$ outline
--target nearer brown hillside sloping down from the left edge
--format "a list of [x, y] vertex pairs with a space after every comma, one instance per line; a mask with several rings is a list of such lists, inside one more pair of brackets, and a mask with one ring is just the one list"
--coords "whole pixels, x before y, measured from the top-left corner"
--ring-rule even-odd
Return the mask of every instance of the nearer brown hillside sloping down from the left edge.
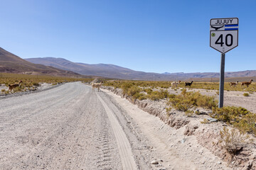
[[80, 74], [63, 69], [33, 64], [0, 47], [0, 72], [20, 74], [48, 74], [63, 77], [81, 77]]

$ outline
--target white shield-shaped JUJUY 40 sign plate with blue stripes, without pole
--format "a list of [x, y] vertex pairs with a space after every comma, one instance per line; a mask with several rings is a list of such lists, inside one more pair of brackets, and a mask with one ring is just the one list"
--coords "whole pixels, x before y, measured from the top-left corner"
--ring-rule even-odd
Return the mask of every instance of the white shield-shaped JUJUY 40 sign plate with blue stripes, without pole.
[[210, 47], [223, 54], [238, 47], [238, 18], [210, 20]]

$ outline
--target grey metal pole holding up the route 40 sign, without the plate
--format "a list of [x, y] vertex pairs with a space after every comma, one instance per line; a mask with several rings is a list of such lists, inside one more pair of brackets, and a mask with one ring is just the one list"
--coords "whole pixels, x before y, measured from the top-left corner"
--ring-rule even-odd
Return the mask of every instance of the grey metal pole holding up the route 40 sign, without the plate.
[[224, 74], [225, 74], [225, 54], [221, 54], [219, 108], [223, 107], [223, 99], [224, 99]]

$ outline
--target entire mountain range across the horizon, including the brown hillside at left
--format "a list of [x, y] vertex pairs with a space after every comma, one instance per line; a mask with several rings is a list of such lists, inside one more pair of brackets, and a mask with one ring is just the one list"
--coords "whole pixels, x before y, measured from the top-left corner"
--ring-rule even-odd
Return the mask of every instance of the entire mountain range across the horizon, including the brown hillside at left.
[[[48, 74], [63, 77], [108, 77], [112, 79], [174, 81], [218, 78], [216, 72], [168, 73], [139, 72], [114, 64], [85, 64], [63, 58], [43, 57], [21, 59], [0, 47], [0, 72], [20, 74]], [[256, 77], [256, 70], [225, 72], [225, 77]]]

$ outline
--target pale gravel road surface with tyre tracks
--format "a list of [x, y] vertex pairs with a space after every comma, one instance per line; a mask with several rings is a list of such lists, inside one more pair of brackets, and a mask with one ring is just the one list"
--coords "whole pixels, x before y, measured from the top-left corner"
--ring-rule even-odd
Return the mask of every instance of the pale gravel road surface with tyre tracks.
[[151, 169], [120, 108], [90, 86], [0, 101], [0, 169]]

